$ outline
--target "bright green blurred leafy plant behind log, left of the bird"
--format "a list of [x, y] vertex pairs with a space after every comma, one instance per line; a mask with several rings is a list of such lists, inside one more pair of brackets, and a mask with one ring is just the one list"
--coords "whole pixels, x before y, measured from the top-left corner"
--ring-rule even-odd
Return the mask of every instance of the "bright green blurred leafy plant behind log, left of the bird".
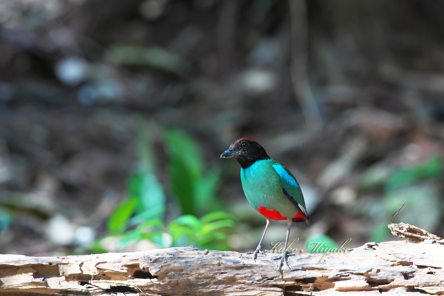
[[[201, 249], [227, 250], [226, 229], [234, 226], [233, 217], [220, 211], [216, 199], [220, 171], [205, 174], [205, 161], [198, 143], [188, 134], [167, 129], [163, 144], [168, 157], [170, 193], [177, 198], [183, 216], [164, 224], [166, 193], [156, 175], [155, 154], [147, 123], [138, 127], [139, 159], [127, 183], [129, 196], [111, 214], [110, 235], [95, 242], [93, 252], [106, 252], [103, 242], [116, 239], [117, 249], [130, 243], [149, 240], [163, 248], [194, 245]], [[214, 211], [218, 209], [218, 211]], [[194, 215], [204, 214], [200, 219]]]

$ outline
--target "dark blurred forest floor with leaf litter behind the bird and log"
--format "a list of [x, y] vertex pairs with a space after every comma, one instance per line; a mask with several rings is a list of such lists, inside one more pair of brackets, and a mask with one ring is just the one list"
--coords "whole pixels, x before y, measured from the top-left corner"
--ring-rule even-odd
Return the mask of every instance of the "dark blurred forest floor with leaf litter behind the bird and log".
[[[310, 225], [293, 225], [298, 248], [317, 234], [392, 240], [404, 202], [398, 222], [443, 237], [443, 10], [432, 0], [1, 0], [0, 253], [88, 253], [128, 197], [141, 121], [163, 221], [186, 206], [170, 186], [173, 128], [197, 141], [205, 174], [219, 172], [215, 198], [236, 223], [229, 249], [253, 250], [265, 226], [238, 164], [219, 159], [244, 136], [301, 183]], [[266, 248], [285, 233], [272, 222]]]

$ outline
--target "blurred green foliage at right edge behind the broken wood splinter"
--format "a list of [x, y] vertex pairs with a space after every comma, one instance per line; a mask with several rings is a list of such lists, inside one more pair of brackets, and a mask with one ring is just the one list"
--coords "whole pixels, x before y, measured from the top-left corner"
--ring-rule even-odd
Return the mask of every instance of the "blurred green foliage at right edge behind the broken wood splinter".
[[390, 233], [387, 225], [392, 214], [404, 202], [396, 220], [433, 231], [442, 215], [439, 189], [435, 181], [442, 171], [442, 160], [432, 156], [415, 166], [397, 170], [379, 166], [364, 174], [361, 188], [375, 189], [382, 186], [384, 189], [382, 200], [362, 201], [357, 204], [357, 211], [366, 214], [376, 223], [371, 240], [377, 243], [385, 240]]

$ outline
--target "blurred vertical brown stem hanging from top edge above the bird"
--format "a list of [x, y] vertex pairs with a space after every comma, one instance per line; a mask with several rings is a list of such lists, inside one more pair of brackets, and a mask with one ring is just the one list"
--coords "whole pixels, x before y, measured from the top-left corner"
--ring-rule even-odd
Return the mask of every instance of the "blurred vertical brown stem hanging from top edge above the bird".
[[322, 127], [321, 112], [310, 89], [307, 75], [308, 21], [305, 0], [289, 0], [291, 22], [291, 81], [294, 95], [310, 129]]

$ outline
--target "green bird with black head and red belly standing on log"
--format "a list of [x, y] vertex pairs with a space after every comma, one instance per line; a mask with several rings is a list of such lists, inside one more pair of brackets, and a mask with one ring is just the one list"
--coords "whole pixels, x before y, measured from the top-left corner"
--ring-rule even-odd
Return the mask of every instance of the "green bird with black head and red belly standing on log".
[[288, 264], [288, 238], [293, 222], [309, 224], [309, 215], [305, 207], [304, 196], [293, 174], [281, 163], [268, 156], [266, 150], [251, 138], [240, 138], [234, 141], [228, 150], [221, 154], [221, 158], [234, 158], [241, 165], [241, 182], [245, 196], [259, 213], [266, 217], [266, 225], [259, 245], [253, 254], [256, 260], [262, 251], [262, 241], [271, 220], [287, 220], [287, 237], [284, 252], [281, 256], [272, 259], [281, 259], [276, 270]]

